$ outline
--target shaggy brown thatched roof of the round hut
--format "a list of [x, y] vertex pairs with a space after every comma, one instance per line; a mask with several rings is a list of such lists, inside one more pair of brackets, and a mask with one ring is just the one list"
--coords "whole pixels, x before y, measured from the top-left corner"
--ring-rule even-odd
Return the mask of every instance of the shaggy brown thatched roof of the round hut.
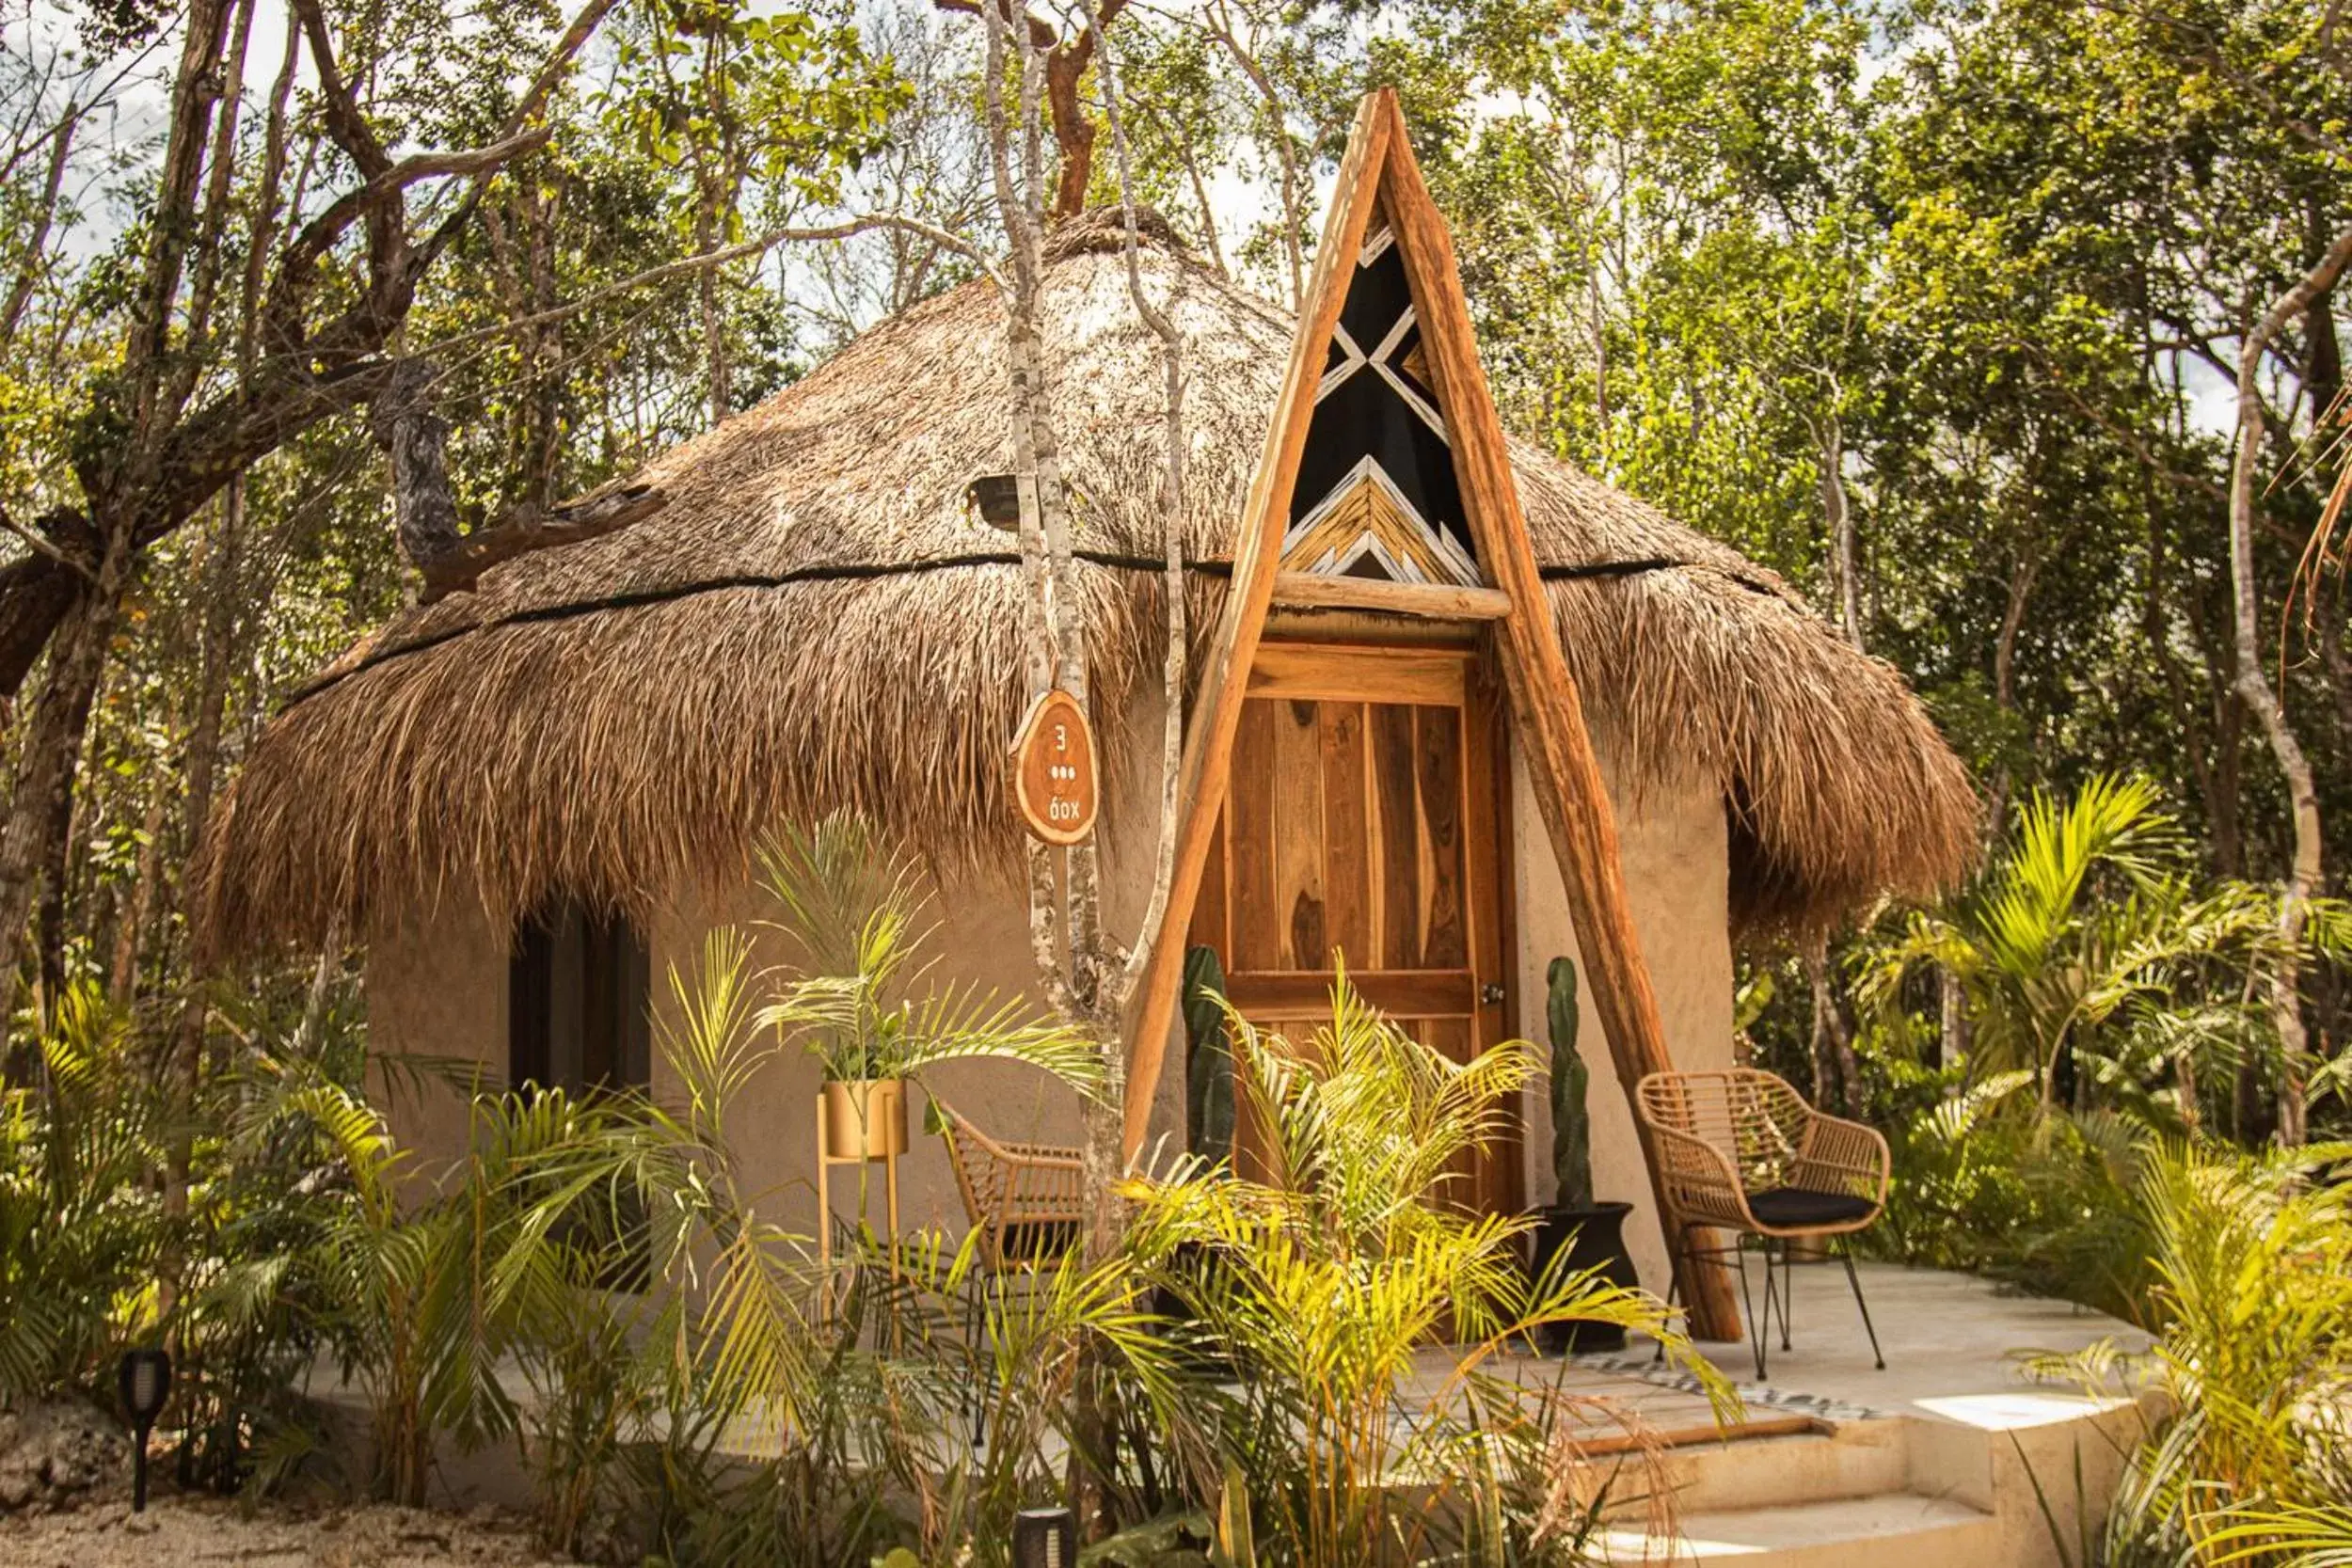
[[[1207, 625], [1291, 320], [1167, 242], [1143, 261], [1185, 334]], [[1157, 679], [1162, 527], [1157, 339], [1105, 223], [1056, 233], [1044, 320], [1103, 722]], [[508, 919], [553, 893], [647, 910], [837, 804], [941, 860], [1002, 863], [1023, 583], [1011, 536], [964, 503], [1011, 468], [1002, 339], [985, 282], [887, 320], [637, 475], [663, 512], [496, 567], [350, 649], [221, 804], [205, 945], [362, 931], [440, 896]], [[1517, 475], [1597, 738], [1722, 780], [1743, 926], [1830, 924], [1964, 870], [1976, 797], [1889, 665], [1576, 468], [1519, 447]]]

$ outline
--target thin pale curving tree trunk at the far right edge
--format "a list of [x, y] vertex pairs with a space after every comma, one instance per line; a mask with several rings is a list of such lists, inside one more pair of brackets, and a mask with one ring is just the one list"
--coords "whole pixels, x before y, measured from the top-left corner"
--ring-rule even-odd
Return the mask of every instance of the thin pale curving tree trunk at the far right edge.
[[2352, 261], [2352, 228], [2336, 235], [2333, 244], [2256, 322], [2246, 334], [2237, 357], [2237, 461], [2230, 465], [2230, 602], [2237, 642], [2237, 696], [2260, 722], [2270, 752], [2286, 778], [2286, 797], [2296, 823], [2296, 856], [2279, 896], [2279, 936], [2288, 952], [2270, 983], [2270, 1016], [2279, 1030], [2279, 1143], [2296, 1147], [2305, 1135], [2303, 1086], [2310, 1077], [2310, 1032], [2303, 1025], [2300, 964], [2293, 950], [2303, 945], [2303, 926], [2310, 917], [2307, 903], [2321, 886], [2321, 820], [2319, 788], [2312, 780], [2310, 757], [2286, 722], [2286, 705], [2263, 672], [2260, 635], [2260, 585], [2253, 574], [2253, 522], [2258, 510], [2258, 480], [2263, 463], [2263, 355], [2286, 322], [2312, 308], [2314, 301], [2336, 287], [2336, 277]]

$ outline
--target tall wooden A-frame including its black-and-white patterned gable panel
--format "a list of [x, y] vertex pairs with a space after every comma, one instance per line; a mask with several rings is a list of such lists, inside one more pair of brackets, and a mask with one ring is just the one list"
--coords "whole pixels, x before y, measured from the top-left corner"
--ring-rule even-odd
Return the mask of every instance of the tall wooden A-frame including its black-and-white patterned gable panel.
[[[1185, 931], [1277, 599], [1486, 623], [1621, 1086], [1632, 1095], [1639, 1077], [1670, 1067], [1616, 818], [1526, 538], [1454, 242], [1388, 89], [1364, 99], [1348, 139], [1185, 731], [1174, 877], [1129, 1020], [1129, 1157], [1150, 1126]], [[1693, 1331], [1738, 1340], [1729, 1274], [1689, 1258], [1677, 1272]]]

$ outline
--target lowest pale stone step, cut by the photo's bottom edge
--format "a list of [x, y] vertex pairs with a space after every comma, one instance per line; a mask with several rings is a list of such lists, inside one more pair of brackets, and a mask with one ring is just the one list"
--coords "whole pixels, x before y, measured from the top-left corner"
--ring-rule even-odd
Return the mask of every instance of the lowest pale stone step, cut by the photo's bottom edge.
[[1740, 1568], [1980, 1568], [1999, 1552], [1992, 1514], [1919, 1493], [1684, 1512], [1672, 1540], [1628, 1526], [1599, 1540], [1604, 1563], [1738, 1559]]

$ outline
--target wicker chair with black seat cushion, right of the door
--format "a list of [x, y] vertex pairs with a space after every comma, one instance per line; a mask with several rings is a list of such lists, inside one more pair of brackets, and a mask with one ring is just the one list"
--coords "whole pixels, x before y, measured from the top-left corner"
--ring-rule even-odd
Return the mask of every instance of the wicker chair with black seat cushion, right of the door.
[[[1780, 1312], [1780, 1349], [1790, 1347], [1790, 1241], [1851, 1237], [1879, 1218], [1891, 1173], [1886, 1140], [1860, 1121], [1813, 1110], [1788, 1079], [1755, 1067], [1653, 1072], [1637, 1086], [1637, 1098], [1665, 1194], [1668, 1248], [1677, 1258], [1729, 1253], [1738, 1262], [1762, 1380], [1773, 1307]], [[1696, 1237], [1710, 1227], [1736, 1232], [1731, 1246], [1698, 1246]], [[1748, 1255], [1738, 1237], [1764, 1244], [1762, 1321], [1748, 1293]], [[1870, 1356], [1884, 1371], [1886, 1356], [1879, 1352], [1879, 1331], [1870, 1324], [1853, 1253], [1844, 1246], [1837, 1253], [1863, 1314], [1863, 1333], [1870, 1335]]]

